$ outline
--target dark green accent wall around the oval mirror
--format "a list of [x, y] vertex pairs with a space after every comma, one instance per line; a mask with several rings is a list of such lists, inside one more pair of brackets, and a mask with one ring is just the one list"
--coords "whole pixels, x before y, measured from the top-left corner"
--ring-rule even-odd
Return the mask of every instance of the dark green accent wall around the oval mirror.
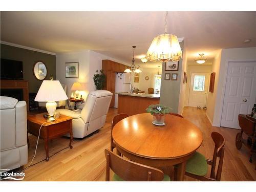
[[37, 93], [42, 83], [42, 80], [36, 79], [33, 74], [36, 61], [44, 62], [47, 67], [45, 80], [50, 80], [50, 77], [56, 79], [55, 55], [1, 44], [1, 58], [23, 61], [23, 79], [29, 81], [29, 93]]

